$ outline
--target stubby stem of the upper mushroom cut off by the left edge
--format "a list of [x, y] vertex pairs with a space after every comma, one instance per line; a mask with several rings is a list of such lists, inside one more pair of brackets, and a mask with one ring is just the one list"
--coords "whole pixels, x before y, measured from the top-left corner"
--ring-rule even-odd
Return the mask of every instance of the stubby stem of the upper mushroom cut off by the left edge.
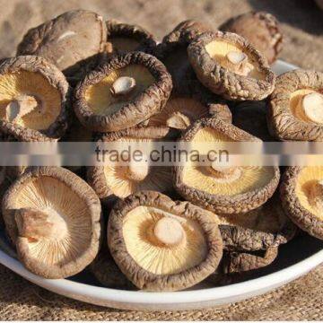
[[5, 107], [5, 117], [9, 122], [17, 122], [20, 118], [41, 107], [39, 100], [32, 95], [22, 94], [10, 101]]

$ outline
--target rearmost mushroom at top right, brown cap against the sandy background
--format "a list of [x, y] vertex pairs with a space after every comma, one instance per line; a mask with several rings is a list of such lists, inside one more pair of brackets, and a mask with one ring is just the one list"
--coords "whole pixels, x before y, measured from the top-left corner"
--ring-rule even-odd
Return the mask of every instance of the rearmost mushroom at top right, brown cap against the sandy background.
[[272, 64], [283, 49], [283, 33], [279, 22], [271, 13], [243, 13], [231, 18], [219, 27], [220, 31], [230, 31], [248, 39]]

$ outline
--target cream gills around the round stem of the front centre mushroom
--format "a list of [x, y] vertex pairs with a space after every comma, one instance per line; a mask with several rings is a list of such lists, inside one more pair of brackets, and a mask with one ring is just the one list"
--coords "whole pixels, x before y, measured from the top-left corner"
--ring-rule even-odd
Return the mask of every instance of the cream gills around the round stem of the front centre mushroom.
[[[153, 227], [162, 216], [171, 216], [181, 223], [186, 239], [179, 245], [166, 247], [152, 238]], [[207, 256], [207, 240], [199, 223], [151, 206], [137, 206], [126, 215], [123, 236], [135, 262], [157, 275], [179, 274]]]

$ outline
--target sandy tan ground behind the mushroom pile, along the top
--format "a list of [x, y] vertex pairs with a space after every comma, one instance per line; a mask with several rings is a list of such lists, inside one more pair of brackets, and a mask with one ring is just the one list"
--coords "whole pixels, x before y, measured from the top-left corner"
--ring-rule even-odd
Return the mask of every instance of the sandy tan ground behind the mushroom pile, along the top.
[[138, 23], [158, 39], [188, 18], [216, 28], [231, 15], [265, 10], [282, 22], [285, 43], [281, 57], [323, 71], [323, 11], [313, 0], [0, 0], [0, 7], [0, 57], [14, 56], [31, 27], [76, 8], [95, 11], [106, 19]]

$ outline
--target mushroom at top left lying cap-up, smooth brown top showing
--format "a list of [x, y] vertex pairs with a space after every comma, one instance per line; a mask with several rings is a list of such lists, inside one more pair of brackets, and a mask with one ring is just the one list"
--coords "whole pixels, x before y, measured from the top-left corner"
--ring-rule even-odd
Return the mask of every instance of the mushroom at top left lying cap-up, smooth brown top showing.
[[17, 55], [45, 57], [71, 76], [98, 57], [106, 39], [106, 24], [99, 14], [74, 10], [28, 31], [18, 46]]

